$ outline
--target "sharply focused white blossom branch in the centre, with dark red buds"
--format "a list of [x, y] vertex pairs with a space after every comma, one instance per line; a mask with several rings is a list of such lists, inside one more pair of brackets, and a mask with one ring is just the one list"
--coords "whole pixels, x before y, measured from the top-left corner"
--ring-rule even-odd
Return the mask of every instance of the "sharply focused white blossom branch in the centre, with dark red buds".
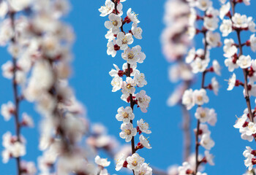
[[[118, 114], [116, 114], [116, 120], [122, 122], [121, 133], [119, 136], [125, 139], [126, 142], [132, 143], [132, 155], [127, 157], [127, 155], [120, 155], [117, 158], [116, 171], [121, 168], [129, 168], [134, 174], [152, 174], [152, 169], [147, 163], [144, 163], [144, 158], [138, 155], [138, 149], [146, 147], [151, 149], [151, 145], [148, 143], [148, 139], [141, 133], [151, 133], [148, 130], [149, 126], [143, 119], [137, 121], [137, 127], [134, 127], [133, 120], [135, 120], [135, 114], [133, 113], [133, 108], [135, 105], [140, 107], [142, 112], [147, 112], [147, 108], [151, 98], [146, 95], [145, 90], [140, 90], [136, 93], [136, 87], [142, 88], [147, 85], [145, 74], [141, 73], [137, 69], [138, 63], [143, 63], [146, 55], [142, 52], [140, 45], [135, 47], [130, 47], [129, 45], [134, 42], [135, 39], [142, 39], [142, 29], [138, 26], [140, 20], [138, 20], [138, 15], [132, 12], [132, 9], [127, 10], [127, 16], [121, 18], [123, 15], [123, 5], [121, 2], [126, 0], [106, 0], [105, 6], [99, 9], [101, 16], [107, 16], [108, 19], [105, 22], [105, 28], [108, 29], [108, 34], [105, 35], [108, 39], [108, 55], [112, 57], [116, 56], [118, 50], [122, 50], [121, 58], [126, 61], [123, 64], [122, 69], [119, 69], [115, 64], [113, 65], [115, 69], [112, 69], [109, 74], [113, 77], [111, 85], [113, 86], [112, 91], [116, 92], [121, 90], [121, 99], [127, 103], [129, 106], [121, 106], [118, 108]], [[128, 32], [124, 31], [124, 25], [132, 23], [132, 28]], [[125, 79], [123, 79], [126, 77]], [[137, 146], [135, 146], [135, 136], [139, 133], [140, 141]], [[97, 164], [100, 166], [101, 162], [105, 162], [104, 159], [96, 158]], [[100, 161], [99, 161], [100, 160]], [[104, 166], [105, 167], [105, 166]], [[106, 172], [102, 169], [101, 173]]]

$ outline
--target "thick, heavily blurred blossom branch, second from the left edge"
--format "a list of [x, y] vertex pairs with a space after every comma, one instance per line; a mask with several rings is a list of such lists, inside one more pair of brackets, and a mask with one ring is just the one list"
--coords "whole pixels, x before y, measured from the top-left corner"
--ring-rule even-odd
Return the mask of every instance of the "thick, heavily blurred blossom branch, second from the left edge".
[[40, 125], [38, 158], [42, 174], [94, 174], [97, 168], [87, 158], [80, 141], [88, 131], [83, 106], [69, 87], [72, 28], [61, 21], [69, 1], [36, 1], [29, 21], [31, 74], [24, 88], [28, 101], [37, 104], [44, 117]]

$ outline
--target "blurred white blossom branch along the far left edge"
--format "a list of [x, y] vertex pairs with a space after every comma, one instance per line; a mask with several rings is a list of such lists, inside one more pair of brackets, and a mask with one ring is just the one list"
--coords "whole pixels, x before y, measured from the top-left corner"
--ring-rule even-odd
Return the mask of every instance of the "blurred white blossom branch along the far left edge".
[[34, 121], [26, 112], [20, 117], [20, 102], [23, 101], [22, 88], [26, 83], [27, 65], [24, 59], [22, 48], [26, 45], [26, 39], [23, 38], [26, 16], [20, 15], [26, 8], [29, 8], [31, 1], [1, 1], [0, 2], [0, 46], [7, 47], [10, 53], [10, 61], [1, 66], [2, 75], [12, 81], [13, 102], [8, 101], [1, 105], [1, 115], [5, 121], [14, 120], [15, 135], [7, 131], [2, 136], [1, 152], [3, 163], [8, 163], [11, 158], [16, 160], [17, 174], [34, 175], [37, 168], [34, 162], [22, 160], [26, 155], [26, 139], [20, 133], [21, 128], [33, 128]]

